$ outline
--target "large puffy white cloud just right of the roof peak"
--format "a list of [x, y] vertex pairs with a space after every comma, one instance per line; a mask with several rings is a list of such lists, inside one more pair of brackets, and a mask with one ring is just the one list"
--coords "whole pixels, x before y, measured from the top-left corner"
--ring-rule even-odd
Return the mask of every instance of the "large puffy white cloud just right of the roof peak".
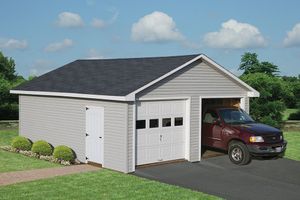
[[267, 45], [257, 27], [234, 19], [222, 23], [219, 31], [207, 33], [203, 41], [209, 47], [225, 49], [259, 48]]

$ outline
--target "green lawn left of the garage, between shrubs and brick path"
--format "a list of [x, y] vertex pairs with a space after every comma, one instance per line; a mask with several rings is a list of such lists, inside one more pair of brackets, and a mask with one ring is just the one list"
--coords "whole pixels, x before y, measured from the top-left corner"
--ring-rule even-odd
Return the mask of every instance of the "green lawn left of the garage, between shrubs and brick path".
[[[17, 135], [18, 131], [16, 129], [0, 130], [0, 146], [10, 145], [12, 138]], [[0, 173], [61, 166], [59, 164], [30, 158], [18, 153], [7, 152], [4, 150], [0, 150], [0, 163]]]

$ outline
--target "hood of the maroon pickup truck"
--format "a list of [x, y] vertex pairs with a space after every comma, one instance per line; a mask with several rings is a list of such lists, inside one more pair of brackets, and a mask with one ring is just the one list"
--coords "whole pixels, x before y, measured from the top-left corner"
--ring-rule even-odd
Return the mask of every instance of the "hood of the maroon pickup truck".
[[281, 133], [281, 131], [277, 128], [274, 128], [266, 124], [260, 124], [260, 123], [232, 125], [232, 128], [235, 128], [242, 132], [246, 131], [254, 135], [270, 135], [270, 133], [271, 134]]

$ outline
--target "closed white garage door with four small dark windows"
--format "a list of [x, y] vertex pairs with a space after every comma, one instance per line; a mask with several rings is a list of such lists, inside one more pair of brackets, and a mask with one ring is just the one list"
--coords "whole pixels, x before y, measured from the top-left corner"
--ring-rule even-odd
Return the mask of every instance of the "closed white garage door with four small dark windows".
[[184, 158], [185, 101], [137, 104], [137, 165]]

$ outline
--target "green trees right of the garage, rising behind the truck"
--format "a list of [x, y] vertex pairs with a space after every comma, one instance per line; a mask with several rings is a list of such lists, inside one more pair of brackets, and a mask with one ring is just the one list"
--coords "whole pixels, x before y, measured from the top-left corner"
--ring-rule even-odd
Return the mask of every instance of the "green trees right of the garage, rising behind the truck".
[[260, 92], [259, 98], [250, 99], [250, 115], [256, 121], [280, 127], [286, 108], [297, 108], [290, 117], [300, 119], [300, 75], [279, 76], [278, 66], [250, 52], [242, 55], [238, 69], [243, 71], [240, 78]]

